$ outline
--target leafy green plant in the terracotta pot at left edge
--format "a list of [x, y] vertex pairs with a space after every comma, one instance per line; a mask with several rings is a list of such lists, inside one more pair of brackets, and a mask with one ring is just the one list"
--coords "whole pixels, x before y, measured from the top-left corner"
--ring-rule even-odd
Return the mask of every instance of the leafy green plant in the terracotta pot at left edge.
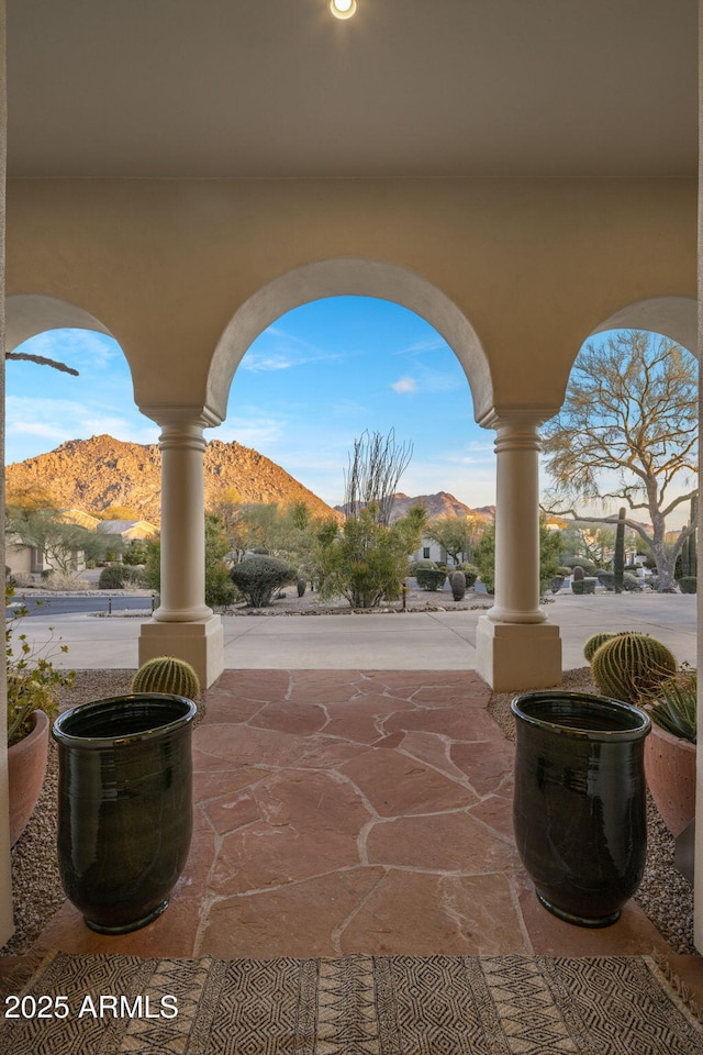
[[[5, 608], [14, 597], [14, 588], [5, 584]], [[74, 670], [56, 670], [52, 658], [55, 653], [68, 652], [51, 637], [45, 645], [30, 644], [26, 634], [18, 634], [16, 626], [26, 609], [14, 609], [5, 623], [5, 667], [8, 677], [8, 747], [23, 740], [34, 723], [34, 711], [41, 710], [55, 718], [58, 710], [58, 691], [74, 682]], [[49, 628], [51, 629], [51, 628]]]

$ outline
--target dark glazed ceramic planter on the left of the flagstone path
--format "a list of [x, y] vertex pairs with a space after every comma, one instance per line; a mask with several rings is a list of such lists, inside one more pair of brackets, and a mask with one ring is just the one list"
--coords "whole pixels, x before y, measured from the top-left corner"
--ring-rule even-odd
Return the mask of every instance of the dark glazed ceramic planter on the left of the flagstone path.
[[168, 904], [192, 834], [196, 712], [183, 697], [144, 692], [54, 723], [62, 882], [93, 931], [125, 934]]

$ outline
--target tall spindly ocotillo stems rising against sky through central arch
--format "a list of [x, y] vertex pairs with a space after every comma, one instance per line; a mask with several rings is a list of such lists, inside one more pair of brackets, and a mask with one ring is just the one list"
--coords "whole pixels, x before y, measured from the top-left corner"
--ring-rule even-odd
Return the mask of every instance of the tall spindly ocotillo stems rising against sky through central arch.
[[358, 519], [362, 509], [372, 506], [376, 522], [388, 525], [398, 481], [412, 455], [412, 443], [398, 444], [394, 429], [387, 436], [365, 430], [354, 441], [349, 468], [344, 474], [344, 509], [347, 518]]

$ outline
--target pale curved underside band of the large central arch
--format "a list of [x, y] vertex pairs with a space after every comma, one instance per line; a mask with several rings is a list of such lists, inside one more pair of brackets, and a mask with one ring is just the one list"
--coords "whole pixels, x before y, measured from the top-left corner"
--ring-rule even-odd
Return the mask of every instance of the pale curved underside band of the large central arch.
[[338, 258], [304, 264], [272, 279], [234, 313], [217, 342], [208, 375], [208, 406], [226, 413], [230, 386], [252, 342], [280, 315], [325, 297], [376, 297], [414, 311], [444, 337], [471, 389], [477, 421], [493, 406], [488, 357], [473, 326], [445, 293], [408, 268]]

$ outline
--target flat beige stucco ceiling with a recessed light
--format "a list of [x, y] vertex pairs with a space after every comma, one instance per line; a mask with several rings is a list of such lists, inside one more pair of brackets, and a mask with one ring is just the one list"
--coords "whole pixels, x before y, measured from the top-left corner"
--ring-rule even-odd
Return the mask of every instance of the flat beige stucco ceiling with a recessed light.
[[695, 0], [8, 0], [22, 176], [696, 171]]

